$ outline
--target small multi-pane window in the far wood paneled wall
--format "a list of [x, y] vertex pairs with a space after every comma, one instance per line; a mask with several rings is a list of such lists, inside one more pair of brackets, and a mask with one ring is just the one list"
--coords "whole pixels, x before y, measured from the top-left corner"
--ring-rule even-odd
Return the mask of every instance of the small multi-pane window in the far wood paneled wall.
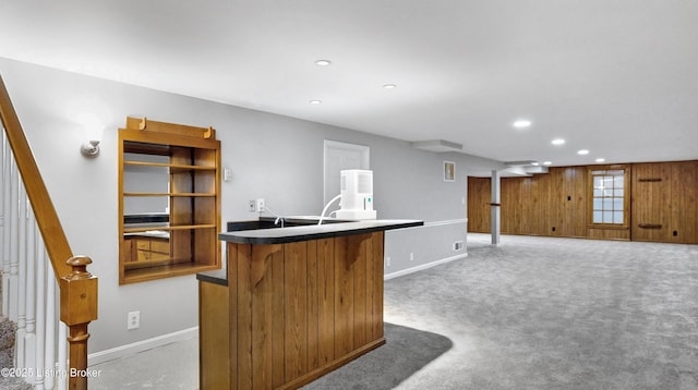
[[592, 207], [594, 224], [626, 224], [627, 174], [625, 169], [591, 170]]

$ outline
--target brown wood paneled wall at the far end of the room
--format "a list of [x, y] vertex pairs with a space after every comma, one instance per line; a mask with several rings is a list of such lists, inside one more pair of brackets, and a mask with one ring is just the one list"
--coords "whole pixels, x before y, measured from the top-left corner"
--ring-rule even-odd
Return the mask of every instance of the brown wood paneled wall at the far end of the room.
[[[502, 233], [698, 243], [698, 161], [630, 164], [629, 231], [589, 228], [587, 168], [502, 179]], [[468, 231], [490, 232], [490, 197], [489, 178], [468, 178]]]

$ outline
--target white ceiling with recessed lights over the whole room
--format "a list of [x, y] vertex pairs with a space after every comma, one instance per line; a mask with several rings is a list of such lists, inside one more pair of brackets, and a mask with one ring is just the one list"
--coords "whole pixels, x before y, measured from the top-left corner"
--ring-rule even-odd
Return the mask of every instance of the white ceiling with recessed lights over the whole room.
[[0, 57], [500, 161], [683, 160], [697, 21], [695, 0], [0, 0]]

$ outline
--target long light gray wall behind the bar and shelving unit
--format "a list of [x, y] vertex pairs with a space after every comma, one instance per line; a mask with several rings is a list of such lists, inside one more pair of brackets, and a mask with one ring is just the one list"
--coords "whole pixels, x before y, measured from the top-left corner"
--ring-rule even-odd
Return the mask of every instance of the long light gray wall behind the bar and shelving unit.
[[[71, 246], [93, 258], [91, 271], [99, 277], [99, 319], [91, 327], [91, 353], [197, 326], [194, 276], [119, 285], [116, 143], [127, 115], [217, 130], [222, 164], [233, 172], [222, 184], [224, 223], [256, 218], [246, 204], [257, 197], [280, 214], [318, 214], [323, 141], [369, 145], [378, 218], [428, 222], [386, 235], [388, 275], [457, 255], [453, 242], [466, 239], [467, 172], [501, 167], [472, 156], [431, 154], [401, 141], [7, 59], [0, 59], [0, 75]], [[107, 127], [97, 159], [80, 154], [83, 136], [74, 118], [83, 111], [98, 114]], [[456, 182], [443, 181], [444, 159], [456, 162]], [[141, 328], [127, 331], [131, 310], [141, 312]]]

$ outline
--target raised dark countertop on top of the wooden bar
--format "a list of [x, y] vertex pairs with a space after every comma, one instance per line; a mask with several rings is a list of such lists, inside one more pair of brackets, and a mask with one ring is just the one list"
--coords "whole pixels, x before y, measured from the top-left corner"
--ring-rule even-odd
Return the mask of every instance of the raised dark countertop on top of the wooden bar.
[[410, 219], [376, 219], [353, 222], [306, 224], [289, 228], [240, 230], [219, 233], [218, 240], [236, 244], [285, 244], [299, 241], [365, 234], [384, 230], [421, 227], [424, 221]]

